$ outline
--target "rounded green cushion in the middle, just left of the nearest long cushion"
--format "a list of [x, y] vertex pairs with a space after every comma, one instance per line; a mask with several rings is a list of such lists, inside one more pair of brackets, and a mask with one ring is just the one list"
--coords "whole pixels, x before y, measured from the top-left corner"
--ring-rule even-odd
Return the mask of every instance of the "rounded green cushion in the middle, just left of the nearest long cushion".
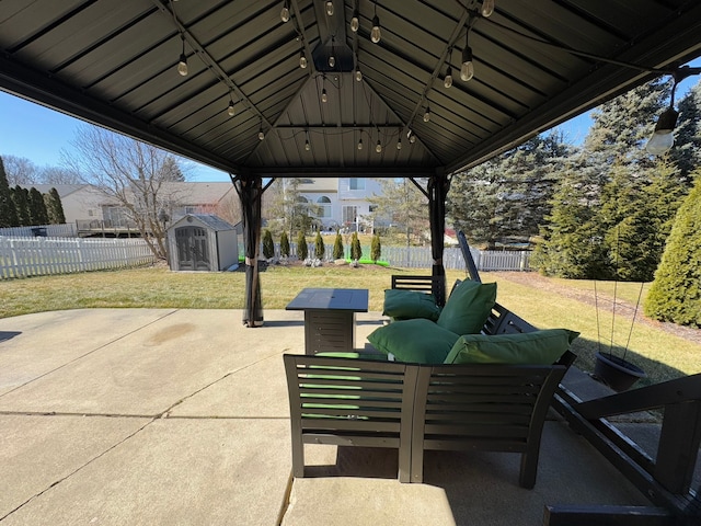
[[368, 340], [375, 348], [391, 354], [397, 362], [441, 364], [458, 338], [430, 320], [417, 318], [380, 327]]

